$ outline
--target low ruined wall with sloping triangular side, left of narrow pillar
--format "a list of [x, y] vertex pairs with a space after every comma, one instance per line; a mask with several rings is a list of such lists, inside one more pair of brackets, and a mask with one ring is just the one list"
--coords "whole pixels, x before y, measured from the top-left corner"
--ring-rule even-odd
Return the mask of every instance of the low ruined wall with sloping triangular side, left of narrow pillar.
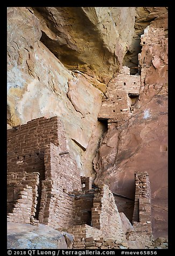
[[119, 211], [108, 186], [88, 191], [72, 191], [75, 198], [75, 224], [63, 226], [59, 231], [74, 235], [75, 246], [81, 247], [84, 239], [125, 240]]

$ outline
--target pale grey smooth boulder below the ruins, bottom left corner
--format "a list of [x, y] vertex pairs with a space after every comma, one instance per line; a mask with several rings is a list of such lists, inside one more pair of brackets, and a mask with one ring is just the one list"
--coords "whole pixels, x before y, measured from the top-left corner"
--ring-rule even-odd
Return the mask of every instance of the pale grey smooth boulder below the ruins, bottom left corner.
[[72, 248], [71, 234], [59, 232], [43, 224], [8, 223], [8, 249], [68, 249]]

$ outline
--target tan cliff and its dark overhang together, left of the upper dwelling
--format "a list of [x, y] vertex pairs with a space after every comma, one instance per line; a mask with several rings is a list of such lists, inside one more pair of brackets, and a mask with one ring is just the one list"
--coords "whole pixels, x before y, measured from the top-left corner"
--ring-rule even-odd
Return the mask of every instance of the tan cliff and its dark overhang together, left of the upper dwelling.
[[105, 129], [97, 120], [104, 82], [122, 64], [134, 13], [134, 8], [8, 8], [8, 128], [59, 116], [81, 175], [94, 176], [92, 160]]

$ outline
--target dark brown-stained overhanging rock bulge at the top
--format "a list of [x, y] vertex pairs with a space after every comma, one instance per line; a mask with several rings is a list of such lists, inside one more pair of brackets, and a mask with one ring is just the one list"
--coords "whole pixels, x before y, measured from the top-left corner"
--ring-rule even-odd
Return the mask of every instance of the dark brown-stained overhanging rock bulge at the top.
[[134, 7], [36, 7], [45, 44], [68, 69], [108, 82], [134, 33]]

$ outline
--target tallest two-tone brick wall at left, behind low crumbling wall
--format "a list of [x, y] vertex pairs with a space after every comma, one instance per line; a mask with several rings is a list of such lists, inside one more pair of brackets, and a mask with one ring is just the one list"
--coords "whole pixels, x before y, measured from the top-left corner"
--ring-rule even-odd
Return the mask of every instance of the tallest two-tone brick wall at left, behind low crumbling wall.
[[[32, 216], [40, 223], [53, 227], [74, 224], [74, 198], [68, 191], [81, 190], [81, 177], [57, 117], [37, 118], [8, 130], [8, 173], [12, 171], [12, 175], [20, 172], [21, 177], [38, 172], [38, 201]], [[17, 181], [15, 175], [11, 182]]]

